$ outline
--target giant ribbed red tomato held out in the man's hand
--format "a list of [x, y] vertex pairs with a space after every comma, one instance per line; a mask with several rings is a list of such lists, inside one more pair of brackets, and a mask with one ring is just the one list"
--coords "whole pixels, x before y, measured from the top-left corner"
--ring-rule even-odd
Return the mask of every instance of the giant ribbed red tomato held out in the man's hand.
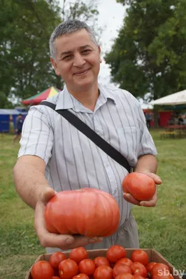
[[49, 232], [110, 236], [120, 222], [115, 199], [94, 188], [62, 191], [45, 206], [45, 223]]

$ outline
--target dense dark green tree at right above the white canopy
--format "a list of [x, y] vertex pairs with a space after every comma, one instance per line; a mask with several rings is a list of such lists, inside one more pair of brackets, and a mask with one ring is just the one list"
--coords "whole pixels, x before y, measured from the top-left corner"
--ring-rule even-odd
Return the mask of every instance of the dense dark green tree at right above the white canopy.
[[118, 2], [129, 8], [106, 54], [113, 82], [148, 100], [185, 89], [186, 1]]

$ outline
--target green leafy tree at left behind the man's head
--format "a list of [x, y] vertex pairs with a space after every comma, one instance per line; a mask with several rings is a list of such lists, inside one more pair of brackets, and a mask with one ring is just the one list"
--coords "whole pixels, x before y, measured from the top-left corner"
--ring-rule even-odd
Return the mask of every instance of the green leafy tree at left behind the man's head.
[[21, 100], [52, 85], [62, 89], [63, 81], [50, 63], [50, 34], [68, 18], [89, 17], [93, 22], [96, 2], [64, 0], [62, 7], [55, 0], [0, 0], [0, 4], [1, 107], [11, 96]]

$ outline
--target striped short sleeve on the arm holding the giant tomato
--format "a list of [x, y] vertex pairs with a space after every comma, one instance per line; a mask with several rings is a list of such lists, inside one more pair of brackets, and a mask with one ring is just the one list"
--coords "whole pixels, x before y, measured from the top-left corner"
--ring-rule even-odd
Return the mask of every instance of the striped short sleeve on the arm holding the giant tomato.
[[53, 131], [47, 114], [40, 106], [33, 106], [24, 120], [18, 158], [24, 155], [38, 156], [45, 161], [52, 155]]

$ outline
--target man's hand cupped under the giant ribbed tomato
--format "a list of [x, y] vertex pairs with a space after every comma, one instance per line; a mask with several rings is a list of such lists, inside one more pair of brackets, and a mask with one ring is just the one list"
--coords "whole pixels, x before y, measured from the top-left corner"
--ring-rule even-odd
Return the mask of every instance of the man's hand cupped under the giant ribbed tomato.
[[101, 237], [88, 238], [86, 236], [71, 236], [68, 234], [53, 234], [48, 232], [45, 227], [45, 205], [55, 194], [56, 192], [52, 188], [48, 188], [36, 204], [34, 228], [41, 245], [43, 247], [69, 250], [79, 246], [86, 246], [90, 243], [101, 242], [103, 239]]

